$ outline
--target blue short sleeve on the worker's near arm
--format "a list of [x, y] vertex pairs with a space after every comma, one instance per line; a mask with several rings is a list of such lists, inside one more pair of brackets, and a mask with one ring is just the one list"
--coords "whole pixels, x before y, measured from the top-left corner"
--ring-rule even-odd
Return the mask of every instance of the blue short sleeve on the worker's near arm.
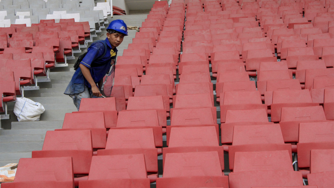
[[87, 49], [87, 54], [82, 59], [80, 64], [83, 64], [87, 68], [90, 68], [93, 60], [103, 55], [103, 51], [104, 51], [104, 45], [100, 42], [90, 45], [89, 48]]

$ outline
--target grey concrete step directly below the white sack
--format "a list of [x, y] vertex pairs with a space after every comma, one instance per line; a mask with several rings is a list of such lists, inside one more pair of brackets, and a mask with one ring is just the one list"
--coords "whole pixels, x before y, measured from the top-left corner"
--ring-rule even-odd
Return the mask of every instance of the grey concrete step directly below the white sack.
[[61, 129], [63, 121], [12, 122], [12, 129]]

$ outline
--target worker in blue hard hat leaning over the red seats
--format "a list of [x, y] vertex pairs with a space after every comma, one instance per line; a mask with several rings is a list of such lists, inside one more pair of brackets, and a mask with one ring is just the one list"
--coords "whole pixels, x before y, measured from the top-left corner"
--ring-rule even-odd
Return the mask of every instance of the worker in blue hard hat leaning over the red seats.
[[101, 97], [103, 77], [107, 73], [114, 73], [117, 47], [128, 36], [128, 28], [123, 20], [110, 22], [106, 31], [105, 40], [95, 41], [88, 47], [64, 92], [73, 99], [78, 110], [82, 98]]

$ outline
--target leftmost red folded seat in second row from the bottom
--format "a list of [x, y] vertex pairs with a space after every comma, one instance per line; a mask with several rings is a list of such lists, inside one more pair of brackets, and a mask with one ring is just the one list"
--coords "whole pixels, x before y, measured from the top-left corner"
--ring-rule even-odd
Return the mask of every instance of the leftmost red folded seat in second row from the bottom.
[[92, 155], [89, 130], [47, 131], [42, 151], [32, 151], [32, 158], [72, 157], [75, 174], [88, 174]]

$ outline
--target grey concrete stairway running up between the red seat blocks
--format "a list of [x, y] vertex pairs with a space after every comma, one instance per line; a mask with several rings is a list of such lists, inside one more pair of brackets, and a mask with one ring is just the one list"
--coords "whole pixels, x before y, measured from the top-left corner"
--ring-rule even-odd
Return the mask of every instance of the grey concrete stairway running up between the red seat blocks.
[[[141, 26], [147, 18], [147, 14], [114, 16], [114, 18], [109, 18], [108, 21], [110, 23], [113, 20], [122, 19], [128, 26]], [[129, 36], [124, 38], [123, 43], [118, 48], [118, 56], [123, 55], [123, 50], [128, 48], [129, 43], [132, 43], [136, 32], [136, 30], [128, 31]], [[97, 35], [98, 37], [94, 40], [105, 39], [105, 29]], [[86, 49], [83, 49], [82, 53], [85, 51]], [[81, 54], [75, 54], [76, 57], [79, 55]], [[40, 121], [17, 122], [13, 114], [15, 103], [9, 104], [9, 111], [12, 116], [11, 120], [7, 120], [10, 121], [7, 122], [9, 126], [0, 130], [0, 166], [19, 162], [20, 158], [31, 157], [31, 151], [41, 150], [46, 131], [61, 129], [65, 114], [76, 111], [72, 99], [63, 94], [74, 73], [73, 64], [76, 59], [68, 60], [68, 67], [52, 69], [50, 72], [51, 82], [39, 83], [39, 90], [25, 91], [25, 97], [39, 102], [45, 107], [46, 111], [41, 115]]]

